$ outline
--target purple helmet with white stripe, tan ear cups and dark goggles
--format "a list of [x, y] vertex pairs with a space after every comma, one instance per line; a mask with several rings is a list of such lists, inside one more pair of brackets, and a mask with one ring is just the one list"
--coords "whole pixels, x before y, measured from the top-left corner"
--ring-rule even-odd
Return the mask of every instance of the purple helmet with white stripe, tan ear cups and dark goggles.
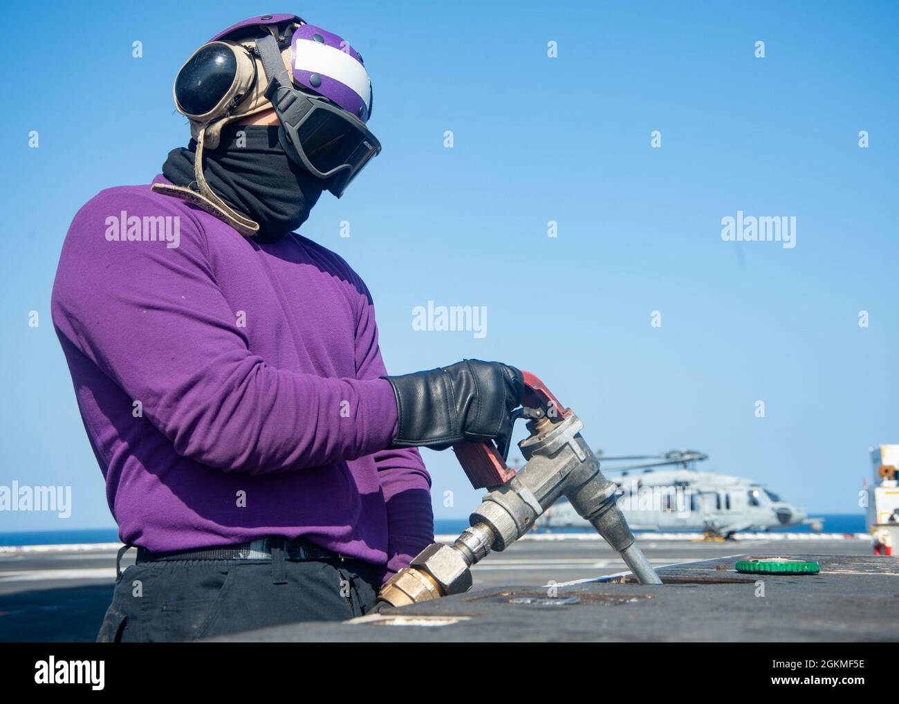
[[[263, 14], [218, 32], [179, 71], [174, 100], [191, 120], [198, 151], [218, 147], [228, 122], [274, 108], [288, 156], [338, 198], [381, 148], [366, 126], [371, 80], [359, 52], [293, 14]], [[200, 192], [222, 208], [201, 158], [195, 163]]]

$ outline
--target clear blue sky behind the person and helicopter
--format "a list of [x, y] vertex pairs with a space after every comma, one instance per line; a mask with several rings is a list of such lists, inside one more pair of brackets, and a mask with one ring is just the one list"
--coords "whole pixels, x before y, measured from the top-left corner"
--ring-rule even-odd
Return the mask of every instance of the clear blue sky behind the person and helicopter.
[[[899, 442], [899, 5], [38, 2], [7, 8], [0, 44], [0, 484], [70, 485], [74, 507], [0, 530], [112, 524], [49, 316], [58, 252], [94, 193], [186, 144], [171, 86], [191, 51], [275, 11], [350, 40], [372, 76], [384, 151], [301, 231], [369, 284], [388, 370], [507, 361], [593, 447], [697, 448], [812, 512], [858, 511], [868, 445]], [[737, 210], [796, 216], [796, 247], [722, 241]], [[485, 338], [415, 332], [428, 300], [487, 307]], [[437, 516], [467, 515], [453, 455], [423, 454]]]

